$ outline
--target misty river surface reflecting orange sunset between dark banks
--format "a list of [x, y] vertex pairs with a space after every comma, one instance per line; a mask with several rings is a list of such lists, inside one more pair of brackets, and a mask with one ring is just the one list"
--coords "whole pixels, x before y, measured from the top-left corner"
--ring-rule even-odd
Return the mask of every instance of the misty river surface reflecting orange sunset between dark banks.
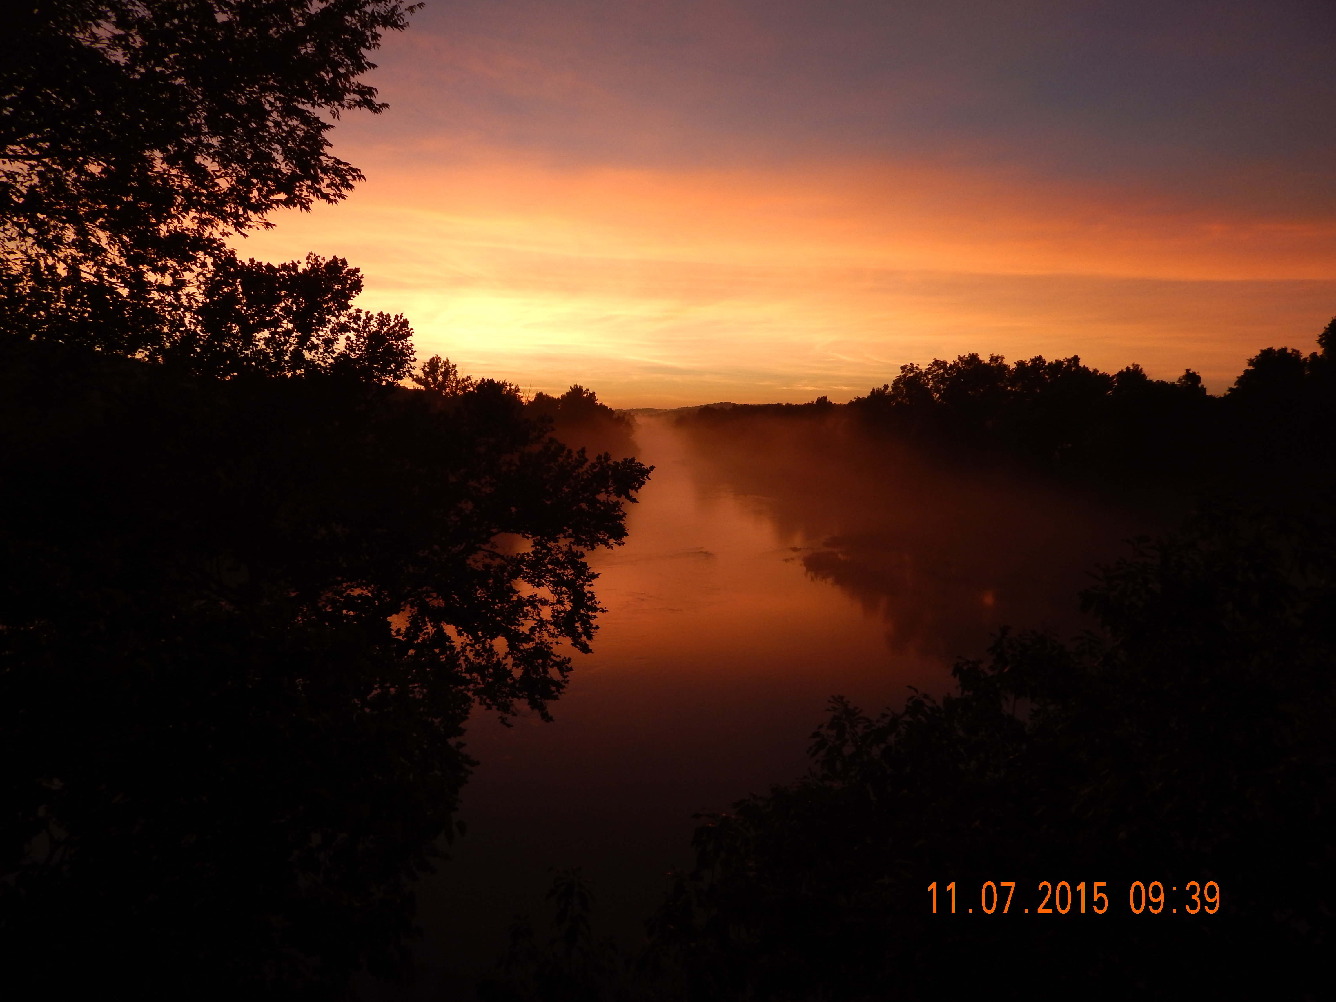
[[1002, 623], [1071, 632], [1088, 568], [1133, 528], [808, 430], [691, 438], [641, 420], [656, 469], [627, 545], [592, 556], [595, 653], [556, 723], [469, 731], [469, 832], [420, 891], [430, 966], [486, 966], [512, 915], [542, 911], [549, 867], [582, 866], [600, 921], [635, 935], [691, 862], [691, 815], [800, 774], [831, 695], [879, 709], [941, 692]]

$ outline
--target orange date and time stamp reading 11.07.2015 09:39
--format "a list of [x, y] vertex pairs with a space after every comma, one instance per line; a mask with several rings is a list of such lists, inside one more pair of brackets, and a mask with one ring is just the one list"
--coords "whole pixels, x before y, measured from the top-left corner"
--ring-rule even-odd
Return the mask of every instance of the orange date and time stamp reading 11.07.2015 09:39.
[[[1021, 912], [1035, 915], [1083, 915], [1088, 911], [1104, 915], [1110, 907], [1110, 891], [1108, 880], [1096, 880], [1089, 884], [1089, 898], [1086, 896], [1086, 883], [1073, 884], [1069, 880], [1039, 880], [1031, 900], [1025, 891], [1017, 895], [1015, 880], [985, 880], [979, 887], [977, 903], [966, 900], [962, 895], [961, 907], [957, 907], [955, 882], [941, 888], [941, 900], [937, 883], [927, 886], [933, 898], [933, 912], [950, 911], [958, 914], [974, 914], [979, 911], [985, 915], [1001, 912], [1003, 915]], [[962, 888], [963, 890], [963, 888]], [[1122, 900], [1121, 890], [1113, 892], [1113, 899]], [[1161, 880], [1133, 880], [1126, 892], [1128, 908], [1134, 915], [1169, 914], [1200, 915], [1202, 912], [1214, 915], [1220, 910], [1220, 884], [1214, 880], [1188, 880], [1185, 884], [1172, 884], [1165, 891]]]

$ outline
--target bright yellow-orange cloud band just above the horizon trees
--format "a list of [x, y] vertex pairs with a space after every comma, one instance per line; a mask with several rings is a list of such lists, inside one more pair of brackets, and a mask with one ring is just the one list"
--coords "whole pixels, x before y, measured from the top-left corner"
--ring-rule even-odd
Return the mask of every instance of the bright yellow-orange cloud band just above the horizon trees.
[[492, 158], [370, 178], [240, 250], [343, 254], [424, 351], [624, 406], [848, 398], [971, 350], [1192, 366], [1222, 389], [1257, 347], [1308, 346], [1336, 303], [1331, 227], [1101, 214], [961, 178]]

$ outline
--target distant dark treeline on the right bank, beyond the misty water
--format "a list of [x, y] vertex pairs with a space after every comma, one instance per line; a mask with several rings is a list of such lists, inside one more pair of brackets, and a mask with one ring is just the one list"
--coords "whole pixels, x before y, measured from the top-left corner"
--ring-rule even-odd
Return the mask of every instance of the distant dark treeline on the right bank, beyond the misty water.
[[1137, 365], [1104, 373], [1081, 359], [961, 355], [904, 365], [894, 382], [847, 405], [703, 407], [680, 418], [701, 430], [760, 417], [844, 420], [942, 461], [1110, 482], [1229, 486], [1244, 469], [1287, 473], [1327, 456], [1336, 417], [1336, 321], [1319, 351], [1264, 349], [1222, 395], [1193, 371], [1152, 379]]

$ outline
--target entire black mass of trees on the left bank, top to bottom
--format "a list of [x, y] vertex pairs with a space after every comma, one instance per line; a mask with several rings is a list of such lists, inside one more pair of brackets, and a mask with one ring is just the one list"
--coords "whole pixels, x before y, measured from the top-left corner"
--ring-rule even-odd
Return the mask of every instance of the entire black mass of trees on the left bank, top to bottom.
[[566, 449], [512, 385], [414, 370], [346, 261], [226, 243], [359, 179], [330, 115], [383, 107], [361, 75], [410, 11], [7, 12], [5, 998], [394, 975], [462, 830], [465, 720], [545, 716], [589, 649], [585, 553], [648, 470]]

